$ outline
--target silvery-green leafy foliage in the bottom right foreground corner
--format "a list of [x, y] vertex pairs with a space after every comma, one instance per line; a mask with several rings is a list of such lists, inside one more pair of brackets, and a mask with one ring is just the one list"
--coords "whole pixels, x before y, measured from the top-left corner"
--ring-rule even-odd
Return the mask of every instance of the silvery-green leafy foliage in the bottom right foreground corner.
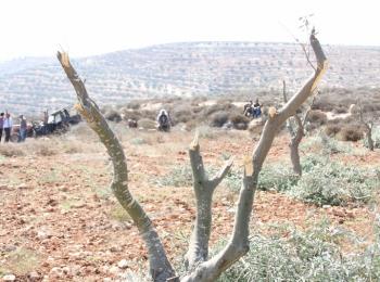
[[349, 234], [326, 222], [288, 233], [253, 236], [248, 255], [218, 281], [379, 281], [379, 238], [363, 253], [344, 254], [339, 242]]

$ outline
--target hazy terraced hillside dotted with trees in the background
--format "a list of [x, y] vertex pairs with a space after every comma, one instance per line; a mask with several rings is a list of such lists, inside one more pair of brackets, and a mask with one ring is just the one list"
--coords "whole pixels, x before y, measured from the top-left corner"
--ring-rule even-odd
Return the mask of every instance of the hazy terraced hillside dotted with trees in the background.
[[[380, 47], [326, 47], [329, 87], [379, 87]], [[168, 95], [249, 94], [296, 87], [311, 73], [297, 44], [191, 42], [153, 46], [74, 60], [101, 104]], [[71, 105], [74, 92], [58, 61], [0, 64], [0, 104], [14, 113]]]

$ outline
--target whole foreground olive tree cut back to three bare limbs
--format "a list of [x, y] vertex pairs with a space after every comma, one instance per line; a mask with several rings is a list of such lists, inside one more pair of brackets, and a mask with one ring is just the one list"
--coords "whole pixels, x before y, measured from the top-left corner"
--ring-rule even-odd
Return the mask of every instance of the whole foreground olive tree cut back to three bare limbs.
[[198, 138], [189, 149], [193, 171], [193, 188], [197, 200], [197, 218], [191, 235], [189, 251], [186, 255], [187, 272], [179, 277], [169, 262], [165, 248], [152, 221], [141, 205], [128, 190], [127, 161], [123, 148], [115, 133], [110, 129], [96, 102], [89, 97], [84, 81], [72, 66], [67, 53], [58, 53], [58, 59], [76, 91], [78, 103], [76, 108], [85, 117], [90, 128], [99, 136], [111, 156], [114, 177], [112, 191], [118, 202], [127, 210], [145, 243], [149, 254], [150, 273], [153, 281], [215, 281], [226, 269], [249, 252], [250, 218], [258, 175], [263, 163], [271, 148], [273, 141], [281, 125], [293, 116], [297, 108], [316, 89], [327, 67], [327, 59], [315, 37], [314, 29], [309, 42], [316, 55], [317, 67], [303, 87], [280, 108], [269, 110], [268, 119], [263, 133], [251, 156], [244, 161], [242, 187], [240, 190], [232, 234], [226, 246], [213, 257], [208, 257], [208, 241], [212, 225], [211, 203], [213, 192], [232, 165], [229, 161], [220, 171], [208, 179], [203, 166]]

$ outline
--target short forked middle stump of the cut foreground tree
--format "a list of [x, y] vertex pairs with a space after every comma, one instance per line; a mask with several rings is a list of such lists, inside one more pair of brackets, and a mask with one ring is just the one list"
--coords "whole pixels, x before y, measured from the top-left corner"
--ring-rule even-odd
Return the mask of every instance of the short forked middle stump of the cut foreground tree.
[[230, 158], [227, 161], [218, 174], [212, 179], [208, 179], [204, 170], [203, 159], [200, 153], [198, 133], [190, 144], [189, 155], [197, 201], [197, 217], [190, 239], [189, 249], [186, 254], [185, 264], [188, 270], [192, 270], [197, 265], [205, 261], [208, 257], [213, 194], [216, 187], [230, 170], [233, 159]]

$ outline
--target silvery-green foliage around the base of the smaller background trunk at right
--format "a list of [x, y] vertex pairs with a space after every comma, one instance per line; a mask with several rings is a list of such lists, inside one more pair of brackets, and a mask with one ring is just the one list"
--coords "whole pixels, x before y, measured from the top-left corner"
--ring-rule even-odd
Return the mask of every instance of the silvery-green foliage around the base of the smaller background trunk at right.
[[[377, 170], [346, 166], [315, 155], [303, 158], [302, 168], [303, 176], [300, 178], [292, 174], [290, 167], [265, 166], [258, 177], [257, 188], [284, 192], [318, 206], [366, 204], [380, 190]], [[241, 179], [236, 178], [235, 181], [237, 183], [230, 187], [239, 188]]]

